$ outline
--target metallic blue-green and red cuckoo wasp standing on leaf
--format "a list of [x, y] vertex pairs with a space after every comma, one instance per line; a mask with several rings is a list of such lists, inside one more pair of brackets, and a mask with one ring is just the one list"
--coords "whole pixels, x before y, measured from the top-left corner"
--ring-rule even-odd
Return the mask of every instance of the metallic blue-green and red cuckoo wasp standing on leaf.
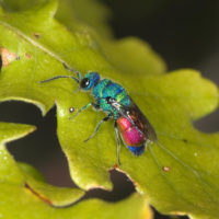
[[73, 76], [56, 76], [41, 81], [41, 83], [60, 78], [71, 78], [79, 83], [79, 89], [90, 91], [94, 97], [94, 102], [82, 106], [76, 115], [90, 106], [107, 114], [107, 116], [97, 124], [94, 132], [84, 140], [84, 142], [90, 140], [97, 132], [101, 125], [111, 118], [114, 118], [114, 129], [117, 141], [117, 161], [119, 165], [120, 138], [124, 145], [135, 155], [142, 154], [149, 142], [157, 141], [157, 135], [153, 127], [120, 84], [115, 83], [110, 79], [101, 79], [97, 72], [92, 71], [82, 77], [79, 71], [70, 69], [65, 64], [64, 67], [67, 70], [77, 73], [77, 78]]

